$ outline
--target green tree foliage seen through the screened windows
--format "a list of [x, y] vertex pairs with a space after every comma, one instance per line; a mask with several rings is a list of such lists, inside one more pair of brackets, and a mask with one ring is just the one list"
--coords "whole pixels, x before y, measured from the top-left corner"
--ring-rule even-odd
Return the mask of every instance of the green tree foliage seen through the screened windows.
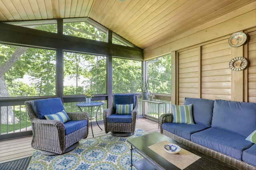
[[[40, 25], [36, 29], [56, 32], [56, 24]], [[65, 23], [64, 34], [106, 41], [106, 33], [86, 22]], [[2, 44], [0, 46], [0, 65], [8, 61], [18, 48], [15, 45]], [[118, 58], [113, 58], [112, 61], [113, 93], [141, 92], [139, 85], [142, 71], [141, 61]], [[170, 73], [170, 55], [160, 57], [156, 63], [149, 63], [149, 92], [170, 93]], [[22, 82], [25, 75], [29, 76], [28, 83]], [[105, 56], [64, 52], [63, 78], [75, 81], [74, 84], [64, 87], [64, 95], [83, 95], [86, 91], [93, 94], [106, 94], [106, 75]], [[5, 73], [4, 79], [10, 97], [56, 95], [56, 51], [27, 47], [25, 53]]]

